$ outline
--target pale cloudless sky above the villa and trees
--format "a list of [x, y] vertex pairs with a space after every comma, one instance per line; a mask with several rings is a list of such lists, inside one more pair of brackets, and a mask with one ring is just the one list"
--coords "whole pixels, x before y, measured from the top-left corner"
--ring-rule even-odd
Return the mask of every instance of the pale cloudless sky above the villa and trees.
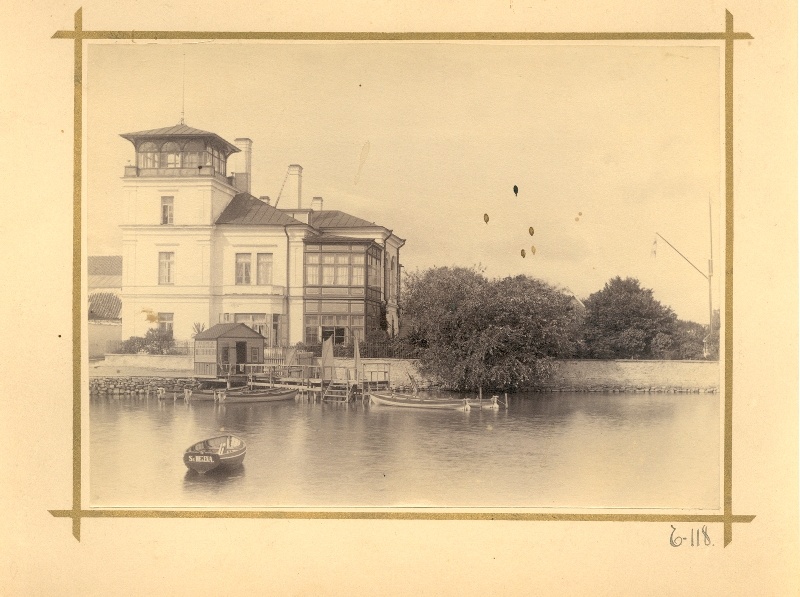
[[719, 308], [718, 46], [89, 44], [89, 255], [121, 254], [119, 134], [179, 123], [184, 54], [185, 123], [252, 139], [254, 195], [300, 164], [304, 202], [393, 230], [407, 271], [482, 264], [580, 298], [633, 276], [707, 323], [707, 281], [652, 250], [659, 232], [706, 272], [710, 199]]

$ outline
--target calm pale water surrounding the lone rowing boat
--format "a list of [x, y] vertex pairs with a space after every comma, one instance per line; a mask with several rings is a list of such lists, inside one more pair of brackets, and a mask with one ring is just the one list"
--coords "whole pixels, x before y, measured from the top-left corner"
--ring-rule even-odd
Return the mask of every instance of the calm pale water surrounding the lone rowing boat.
[[[530, 394], [468, 413], [92, 398], [93, 506], [717, 508], [719, 396]], [[244, 465], [187, 471], [233, 433]]]

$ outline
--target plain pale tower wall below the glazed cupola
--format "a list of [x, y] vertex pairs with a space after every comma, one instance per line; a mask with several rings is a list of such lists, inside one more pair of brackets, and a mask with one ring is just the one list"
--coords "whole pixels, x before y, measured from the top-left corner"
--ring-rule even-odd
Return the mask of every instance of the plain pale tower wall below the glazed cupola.
[[[122, 337], [143, 336], [158, 313], [173, 314], [180, 339], [191, 337], [194, 323], [217, 323], [213, 297], [224, 272], [214, 222], [237, 190], [216, 178], [125, 177], [123, 193]], [[172, 221], [162, 223], [168, 198]], [[162, 279], [164, 254], [172, 264]]]

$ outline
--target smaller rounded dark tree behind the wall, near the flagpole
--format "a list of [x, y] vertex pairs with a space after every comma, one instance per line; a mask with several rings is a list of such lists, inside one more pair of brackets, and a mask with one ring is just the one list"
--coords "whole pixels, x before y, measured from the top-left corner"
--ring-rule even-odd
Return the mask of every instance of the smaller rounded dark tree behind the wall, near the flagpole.
[[584, 351], [598, 359], [670, 358], [676, 316], [636, 278], [609, 280], [585, 301]]

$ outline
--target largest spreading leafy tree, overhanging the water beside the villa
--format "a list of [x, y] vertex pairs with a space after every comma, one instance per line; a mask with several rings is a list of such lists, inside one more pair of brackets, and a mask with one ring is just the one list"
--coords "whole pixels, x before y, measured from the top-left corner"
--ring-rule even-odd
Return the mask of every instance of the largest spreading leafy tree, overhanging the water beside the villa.
[[403, 300], [420, 366], [456, 390], [516, 390], [547, 378], [571, 356], [571, 297], [527, 276], [487, 280], [475, 268], [410, 274]]

